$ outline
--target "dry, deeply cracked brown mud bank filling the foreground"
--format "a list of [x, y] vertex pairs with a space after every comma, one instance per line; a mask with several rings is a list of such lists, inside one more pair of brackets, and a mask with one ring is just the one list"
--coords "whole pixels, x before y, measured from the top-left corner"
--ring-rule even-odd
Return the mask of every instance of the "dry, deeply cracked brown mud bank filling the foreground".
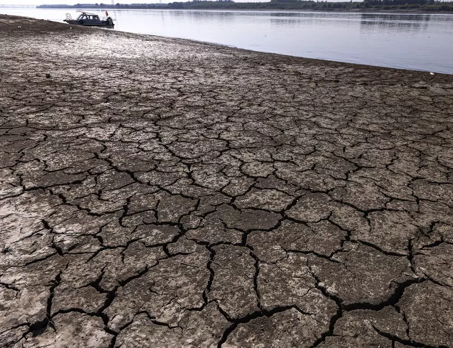
[[4, 15], [0, 47], [1, 347], [453, 347], [453, 76]]

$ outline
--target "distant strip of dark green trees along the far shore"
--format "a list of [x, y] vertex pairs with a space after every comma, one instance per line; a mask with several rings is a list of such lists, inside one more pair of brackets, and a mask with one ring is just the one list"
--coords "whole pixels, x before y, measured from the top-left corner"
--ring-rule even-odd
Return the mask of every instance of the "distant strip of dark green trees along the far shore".
[[116, 5], [105, 3], [77, 3], [75, 5], [39, 5], [37, 8], [93, 8], [93, 9], [268, 9], [268, 10], [415, 10], [423, 12], [453, 12], [453, 1], [439, 0], [363, 0], [363, 1], [314, 1], [271, 0], [269, 2], [234, 2], [233, 0], [192, 0], [187, 2], [132, 3]]

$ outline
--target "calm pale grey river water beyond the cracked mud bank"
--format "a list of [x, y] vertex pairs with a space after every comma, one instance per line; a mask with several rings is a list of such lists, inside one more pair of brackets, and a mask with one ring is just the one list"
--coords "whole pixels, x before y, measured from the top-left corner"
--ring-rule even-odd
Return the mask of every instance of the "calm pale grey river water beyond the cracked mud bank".
[[[0, 8], [62, 21], [74, 10]], [[101, 11], [91, 12], [102, 14]], [[115, 30], [262, 52], [453, 74], [453, 15], [109, 10]]]

